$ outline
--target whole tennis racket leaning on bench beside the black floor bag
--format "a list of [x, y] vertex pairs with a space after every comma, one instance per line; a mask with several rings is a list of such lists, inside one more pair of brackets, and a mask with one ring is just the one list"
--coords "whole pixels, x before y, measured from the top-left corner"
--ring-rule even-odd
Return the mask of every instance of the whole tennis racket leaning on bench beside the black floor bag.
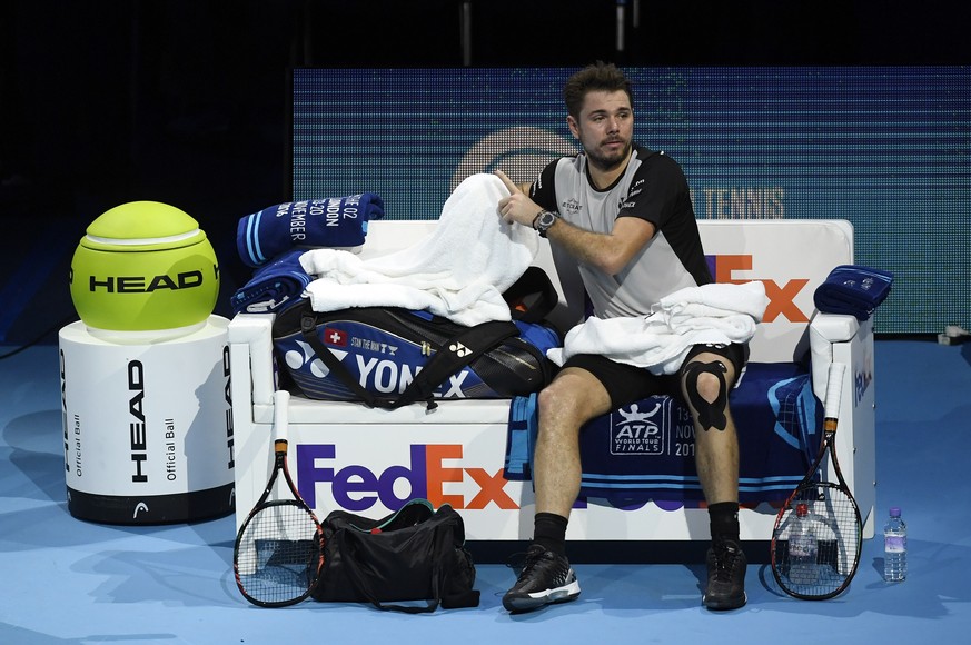
[[[247, 601], [260, 607], [299, 603], [316, 588], [324, 565], [320, 523], [300, 498], [287, 467], [289, 400], [288, 391], [274, 393], [274, 469], [232, 552], [236, 585]], [[289, 495], [274, 494], [280, 473]]]

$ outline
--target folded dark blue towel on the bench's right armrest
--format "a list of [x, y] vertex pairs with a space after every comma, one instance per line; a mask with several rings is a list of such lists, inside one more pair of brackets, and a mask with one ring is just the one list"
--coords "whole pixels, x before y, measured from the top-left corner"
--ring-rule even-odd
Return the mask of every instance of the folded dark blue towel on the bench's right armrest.
[[813, 295], [824, 314], [848, 314], [866, 320], [890, 294], [893, 274], [859, 265], [840, 265]]

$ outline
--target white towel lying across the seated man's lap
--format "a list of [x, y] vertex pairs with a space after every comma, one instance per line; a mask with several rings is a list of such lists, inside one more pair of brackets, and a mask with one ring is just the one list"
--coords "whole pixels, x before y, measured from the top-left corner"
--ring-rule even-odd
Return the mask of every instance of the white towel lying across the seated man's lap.
[[694, 345], [751, 340], [767, 306], [757, 280], [690, 287], [662, 298], [647, 316], [589, 318], [546, 356], [563, 365], [576, 354], [598, 354], [653, 374], [676, 374]]

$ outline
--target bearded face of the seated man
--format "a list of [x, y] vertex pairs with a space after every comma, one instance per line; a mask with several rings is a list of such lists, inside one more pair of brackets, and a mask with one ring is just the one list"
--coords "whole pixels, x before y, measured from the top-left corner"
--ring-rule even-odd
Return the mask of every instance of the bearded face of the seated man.
[[613, 170], [626, 161], [634, 136], [634, 110], [627, 92], [587, 92], [579, 118], [566, 120], [592, 166]]

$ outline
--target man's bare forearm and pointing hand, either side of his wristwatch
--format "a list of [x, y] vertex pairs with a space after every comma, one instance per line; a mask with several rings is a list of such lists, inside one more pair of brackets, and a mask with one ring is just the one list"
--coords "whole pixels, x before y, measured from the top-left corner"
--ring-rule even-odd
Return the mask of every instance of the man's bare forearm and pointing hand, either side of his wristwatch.
[[[509, 197], [499, 200], [499, 214], [506, 221], [532, 227], [543, 207], [529, 199], [529, 185], [516, 186], [502, 170], [496, 170], [496, 175], [509, 190]], [[621, 272], [631, 258], [651, 241], [654, 225], [638, 217], [621, 217], [611, 232], [600, 234], [559, 219], [546, 231], [546, 236], [577, 261], [613, 276]]]

